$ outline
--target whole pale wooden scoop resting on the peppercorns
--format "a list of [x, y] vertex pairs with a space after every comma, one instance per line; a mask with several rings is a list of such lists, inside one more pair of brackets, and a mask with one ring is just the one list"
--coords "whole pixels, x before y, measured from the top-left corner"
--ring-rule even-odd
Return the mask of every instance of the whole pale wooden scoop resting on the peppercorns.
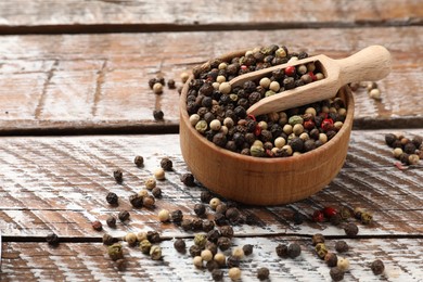
[[229, 84], [232, 88], [242, 86], [247, 80], [256, 80], [268, 76], [275, 69], [310, 62], [315, 62], [317, 68], [320, 68], [324, 75], [323, 79], [264, 98], [252, 105], [247, 110], [247, 114], [257, 116], [330, 99], [335, 97], [336, 92], [344, 85], [357, 81], [380, 80], [390, 72], [389, 51], [382, 46], [370, 46], [346, 59], [333, 60], [325, 55], [310, 56], [241, 75], [229, 81]]

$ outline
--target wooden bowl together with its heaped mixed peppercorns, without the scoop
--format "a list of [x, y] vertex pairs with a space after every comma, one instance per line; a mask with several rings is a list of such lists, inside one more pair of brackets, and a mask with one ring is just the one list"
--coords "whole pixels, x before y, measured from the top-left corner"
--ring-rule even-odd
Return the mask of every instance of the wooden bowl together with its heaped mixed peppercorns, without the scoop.
[[229, 53], [193, 69], [180, 99], [180, 143], [203, 185], [241, 203], [277, 205], [315, 194], [338, 174], [354, 117], [348, 86], [331, 100], [259, 116], [247, 115], [247, 108], [268, 95], [324, 79], [324, 74], [313, 64], [297, 65], [228, 88], [240, 75], [307, 56], [269, 46]]

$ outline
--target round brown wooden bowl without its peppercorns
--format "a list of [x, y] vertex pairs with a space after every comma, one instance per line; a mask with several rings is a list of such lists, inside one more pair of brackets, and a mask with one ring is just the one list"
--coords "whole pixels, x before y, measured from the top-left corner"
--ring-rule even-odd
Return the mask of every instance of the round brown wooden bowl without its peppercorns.
[[[245, 51], [221, 59], [243, 53]], [[261, 158], [219, 148], [191, 126], [187, 112], [191, 79], [192, 76], [180, 98], [181, 152], [196, 180], [210, 191], [245, 204], [287, 204], [320, 191], [339, 172], [347, 155], [354, 118], [354, 98], [349, 87], [343, 87], [337, 93], [346, 104], [347, 116], [335, 137], [302, 155]]]

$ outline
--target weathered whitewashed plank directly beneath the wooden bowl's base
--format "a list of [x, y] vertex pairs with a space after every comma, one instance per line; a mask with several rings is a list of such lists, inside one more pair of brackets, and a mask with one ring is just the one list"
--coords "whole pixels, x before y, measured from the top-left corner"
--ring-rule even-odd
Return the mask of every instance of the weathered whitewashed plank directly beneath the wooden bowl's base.
[[[241, 206], [245, 216], [254, 215], [256, 223], [235, 227], [238, 234], [299, 234], [322, 232], [345, 235], [341, 227], [307, 220], [295, 226], [295, 210], [309, 217], [324, 206], [363, 207], [374, 214], [374, 223], [359, 225], [360, 235], [421, 235], [423, 209], [421, 191], [422, 165], [399, 170], [393, 164], [390, 149], [384, 143], [388, 131], [354, 131], [346, 163], [339, 175], [321, 192], [291, 205], [274, 207]], [[406, 136], [423, 136], [409, 130]], [[133, 164], [143, 155], [145, 166]], [[174, 171], [159, 181], [163, 198], [154, 209], [133, 209], [129, 196], [143, 189], [163, 157], [174, 162]], [[123, 184], [113, 179], [114, 169], [124, 171]], [[204, 188], [187, 188], [180, 176], [188, 171], [181, 157], [178, 136], [99, 136], [72, 138], [2, 138], [0, 139], [0, 228], [3, 236], [40, 240], [50, 232], [63, 238], [100, 240], [104, 232], [121, 236], [128, 231], [161, 230], [164, 236], [192, 235], [172, 223], [161, 223], [162, 208], [181, 209], [195, 218], [193, 206], [200, 203]], [[120, 197], [111, 207], [108, 191]], [[131, 220], [117, 229], [104, 225], [97, 232], [91, 222], [103, 223], [108, 215], [129, 210]], [[213, 219], [213, 211], [208, 209]], [[407, 219], [407, 220], [405, 220]]]

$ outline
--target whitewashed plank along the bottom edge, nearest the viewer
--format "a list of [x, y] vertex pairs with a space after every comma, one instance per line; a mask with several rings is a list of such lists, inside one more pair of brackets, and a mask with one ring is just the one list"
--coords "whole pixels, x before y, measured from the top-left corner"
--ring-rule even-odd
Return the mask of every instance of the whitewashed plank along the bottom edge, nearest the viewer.
[[[335, 241], [326, 240], [329, 249], [334, 249]], [[345, 281], [420, 281], [423, 275], [422, 239], [346, 242], [350, 249], [343, 257], [348, 258], [350, 270], [345, 273]], [[298, 243], [302, 246], [300, 256], [295, 259], [278, 257], [275, 247], [280, 243]], [[188, 247], [192, 244], [192, 240], [187, 240]], [[260, 267], [269, 268], [271, 281], [331, 281], [330, 269], [316, 256], [310, 239], [274, 236], [233, 240], [233, 247], [244, 244], [253, 244], [254, 251], [241, 260], [243, 281], [256, 281], [256, 271]], [[136, 247], [127, 247], [124, 243], [124, 271], [116, 268], [101, 243], [62, 243], [55, 248], [46, 243], [4, 243], [3, 246], [1, 281], [213, 281], [210, 272], [192, 265], [189, 253], [177, 253], [172, 241], [161, 243], [164, 257], [158, 261], [151, 260]], [[230, 251], [225, 254], [229, 255]], [[370, 264], [374, 259], [384, 261], [384, 274], [372, 273]], [[222, 271], [225, 281], [229, 280], [228, 269], [223, 268]]]

